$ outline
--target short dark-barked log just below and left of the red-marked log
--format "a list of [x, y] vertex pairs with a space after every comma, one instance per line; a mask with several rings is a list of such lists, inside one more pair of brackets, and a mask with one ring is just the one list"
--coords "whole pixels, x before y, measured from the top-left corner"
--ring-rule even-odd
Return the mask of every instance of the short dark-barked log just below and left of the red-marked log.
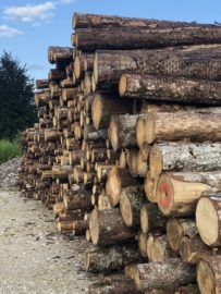
[[143, 204], [140, 209], [140, 228], [143, 233], [164, 231], [165, 218], [159, 211], [156, 204]]

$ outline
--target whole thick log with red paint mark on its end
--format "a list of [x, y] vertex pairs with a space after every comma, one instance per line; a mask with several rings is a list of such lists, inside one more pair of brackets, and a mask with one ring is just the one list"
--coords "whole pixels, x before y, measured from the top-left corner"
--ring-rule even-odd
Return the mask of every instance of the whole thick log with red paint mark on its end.
[[220, 186], [220, 172], [165, 173], [158, 182], [158, 207], [164, 216], [192, 216], [201, 194]]

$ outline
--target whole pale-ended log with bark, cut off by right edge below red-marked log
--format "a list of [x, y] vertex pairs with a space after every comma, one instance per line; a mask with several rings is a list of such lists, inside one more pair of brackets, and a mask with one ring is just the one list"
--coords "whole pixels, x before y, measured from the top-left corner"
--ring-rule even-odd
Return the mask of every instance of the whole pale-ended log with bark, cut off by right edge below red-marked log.
[[205, 193], [196, 208], [196, 224], [209, 246], [221, 245], [221, 193]]

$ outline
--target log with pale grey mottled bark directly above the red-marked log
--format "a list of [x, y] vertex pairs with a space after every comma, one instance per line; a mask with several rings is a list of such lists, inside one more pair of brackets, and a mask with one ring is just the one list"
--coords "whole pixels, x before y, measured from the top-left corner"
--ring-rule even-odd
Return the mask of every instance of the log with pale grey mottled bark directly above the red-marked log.
[[159, 143], [149, 155], [149, 169], [156, 175], [162, 171], [214, 171], [221, 169], [219, 143]]

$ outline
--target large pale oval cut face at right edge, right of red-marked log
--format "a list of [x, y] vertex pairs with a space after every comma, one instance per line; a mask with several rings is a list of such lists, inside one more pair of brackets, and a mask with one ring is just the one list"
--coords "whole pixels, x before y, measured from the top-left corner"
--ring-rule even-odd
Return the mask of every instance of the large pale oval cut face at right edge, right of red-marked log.
[[219, 218], [212, 201], [201, 197], [196, 208], [196, 225], [204, 243], [216, 245], [219, 238]]

